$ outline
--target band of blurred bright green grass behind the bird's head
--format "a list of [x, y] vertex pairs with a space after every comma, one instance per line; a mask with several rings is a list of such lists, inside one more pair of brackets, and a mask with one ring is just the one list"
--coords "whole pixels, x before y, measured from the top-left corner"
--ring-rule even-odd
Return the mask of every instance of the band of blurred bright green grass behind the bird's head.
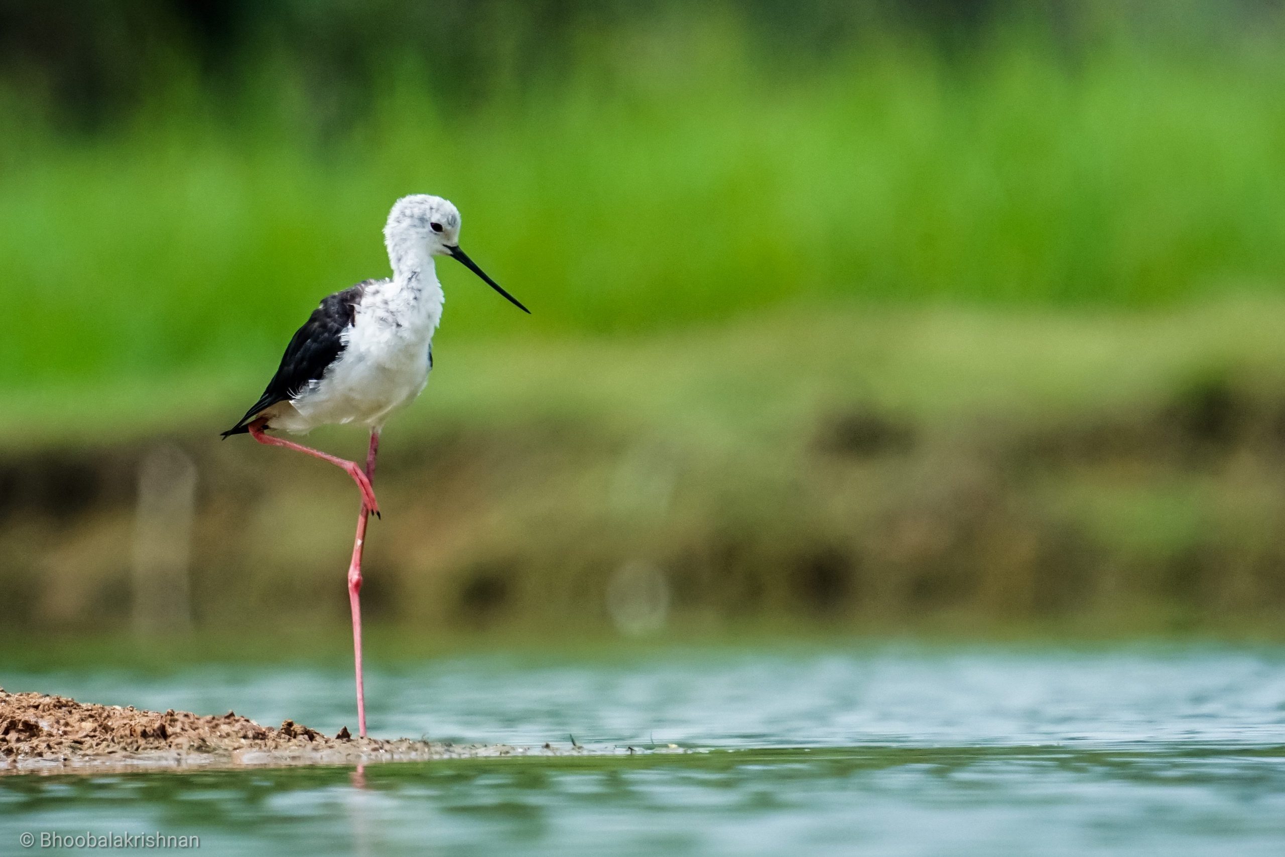
[[445, 263], [443, 337], [619, 335], [834, 301], [1146, 307], [1285, 278], [1285, 63], [1001, 31], [783, 67], [712, 17], [581, 45], [472, 110], [391, 62], [323, 134], [261, 60], [181, 73], [68, 136], [0, 95], [0, 391], [271, 370], [323, 294], [380, 275], [389, 203], [439, 193], [535, 311]]

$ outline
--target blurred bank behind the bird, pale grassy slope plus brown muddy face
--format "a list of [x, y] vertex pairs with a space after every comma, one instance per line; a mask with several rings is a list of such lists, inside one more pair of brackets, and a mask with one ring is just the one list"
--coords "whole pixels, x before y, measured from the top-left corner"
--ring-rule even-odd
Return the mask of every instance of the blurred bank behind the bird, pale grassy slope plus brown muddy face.
[[[386, 433], [365, 615], [1279, 635], [1282, 325], [837, 315], [461, 355]], [[0, 451], [0, 626], [342, 632], [351, 482], [218, 425]]]

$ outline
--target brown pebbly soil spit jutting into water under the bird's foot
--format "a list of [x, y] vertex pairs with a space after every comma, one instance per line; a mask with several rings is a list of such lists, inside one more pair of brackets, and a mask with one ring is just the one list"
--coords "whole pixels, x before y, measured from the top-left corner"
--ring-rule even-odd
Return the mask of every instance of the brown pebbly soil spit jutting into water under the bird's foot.
[[0, 773], [68, 768], [352, 764], [616, 752], [635, 750], [586, 750], [580, 745], [555, 748], [550, 744], [542, 748], [456, 745], [410, 739], [386, 741], [352, 738], [347, 727], [329, 738], [293, 721], [271, 729], [233, 712], [222, 717], [172, 708], [152, 712], [132, 705], [85, 704], [66, 696], [10, 694], [0, 689]]

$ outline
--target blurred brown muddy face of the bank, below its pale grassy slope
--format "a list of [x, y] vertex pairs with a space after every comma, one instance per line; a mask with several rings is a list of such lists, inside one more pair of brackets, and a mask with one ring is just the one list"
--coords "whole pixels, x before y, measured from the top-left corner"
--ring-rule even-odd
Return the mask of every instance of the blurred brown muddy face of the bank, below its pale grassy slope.
[[[1271, 624], [1285, 609], [1282, 427], [1285, 400], [1217, 382], [944, 428], [855, 403], [762, 456], [585, 427], [394, 438], [362, 601], [371, 622], [438, 633], [756, 617]], [[157, 554], [162, 569], [166, 550], [181, 556], [180, 577], [152, 579], [158, 563], [139, 559], [140, 533], [180, 528], [139, 522], [134, 473], [153, 447], [198, 474], [186, 543]], [[347, 624], [355, 496], [330, 468], [181, 437], [6, 466], [32, 499], [0, 514], [9, 627]]]

